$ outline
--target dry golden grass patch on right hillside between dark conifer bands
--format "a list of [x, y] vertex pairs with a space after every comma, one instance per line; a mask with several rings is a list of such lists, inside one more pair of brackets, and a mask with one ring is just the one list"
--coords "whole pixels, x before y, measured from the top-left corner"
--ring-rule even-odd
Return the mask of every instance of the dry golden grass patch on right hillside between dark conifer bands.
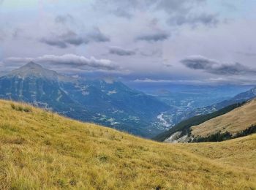
[[192, 135], [206, 137], [219, 131], [236, 134], [256, 124], [256, 99], [244, 104], [235, 110], [213, 118], [198, 126], [192, 126]]

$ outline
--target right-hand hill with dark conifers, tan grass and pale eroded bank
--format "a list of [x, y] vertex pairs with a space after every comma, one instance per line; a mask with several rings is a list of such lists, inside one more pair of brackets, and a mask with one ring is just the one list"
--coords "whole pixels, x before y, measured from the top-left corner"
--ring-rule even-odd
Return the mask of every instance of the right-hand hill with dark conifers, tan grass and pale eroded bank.
[[167, 132], [154, 137], [154, 140], [203, 142], [219, 138], [217, 141], [221, 141], [236, 136], [240, 137], [240, 133], [248, 133], [246, 132], [247, 129], [251, 130], [251, 133], [256, 131], [256, 99], [181, 121]]

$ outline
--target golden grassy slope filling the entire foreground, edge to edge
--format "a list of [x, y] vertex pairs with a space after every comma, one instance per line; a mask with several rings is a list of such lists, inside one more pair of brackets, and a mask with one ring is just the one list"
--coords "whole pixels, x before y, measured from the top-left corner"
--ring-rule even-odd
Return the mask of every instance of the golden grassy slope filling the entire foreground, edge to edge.
[[[219, 143], [216, 161], [206, 146], [217, 143], [161, 144], [0, 101], [0, 189], [256, 189], [256, 136], [248, 140]], [[241, 170], [233, 142], [252, 151]]]

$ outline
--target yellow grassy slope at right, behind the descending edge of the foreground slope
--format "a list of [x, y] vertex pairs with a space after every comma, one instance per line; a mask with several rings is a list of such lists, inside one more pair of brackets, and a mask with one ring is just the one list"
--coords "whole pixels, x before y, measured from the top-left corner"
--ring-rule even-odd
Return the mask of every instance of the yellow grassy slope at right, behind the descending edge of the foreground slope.
[[174, 146], [238, 170], [256, 170], [256, 134], [225, 142], [179, 143]]

